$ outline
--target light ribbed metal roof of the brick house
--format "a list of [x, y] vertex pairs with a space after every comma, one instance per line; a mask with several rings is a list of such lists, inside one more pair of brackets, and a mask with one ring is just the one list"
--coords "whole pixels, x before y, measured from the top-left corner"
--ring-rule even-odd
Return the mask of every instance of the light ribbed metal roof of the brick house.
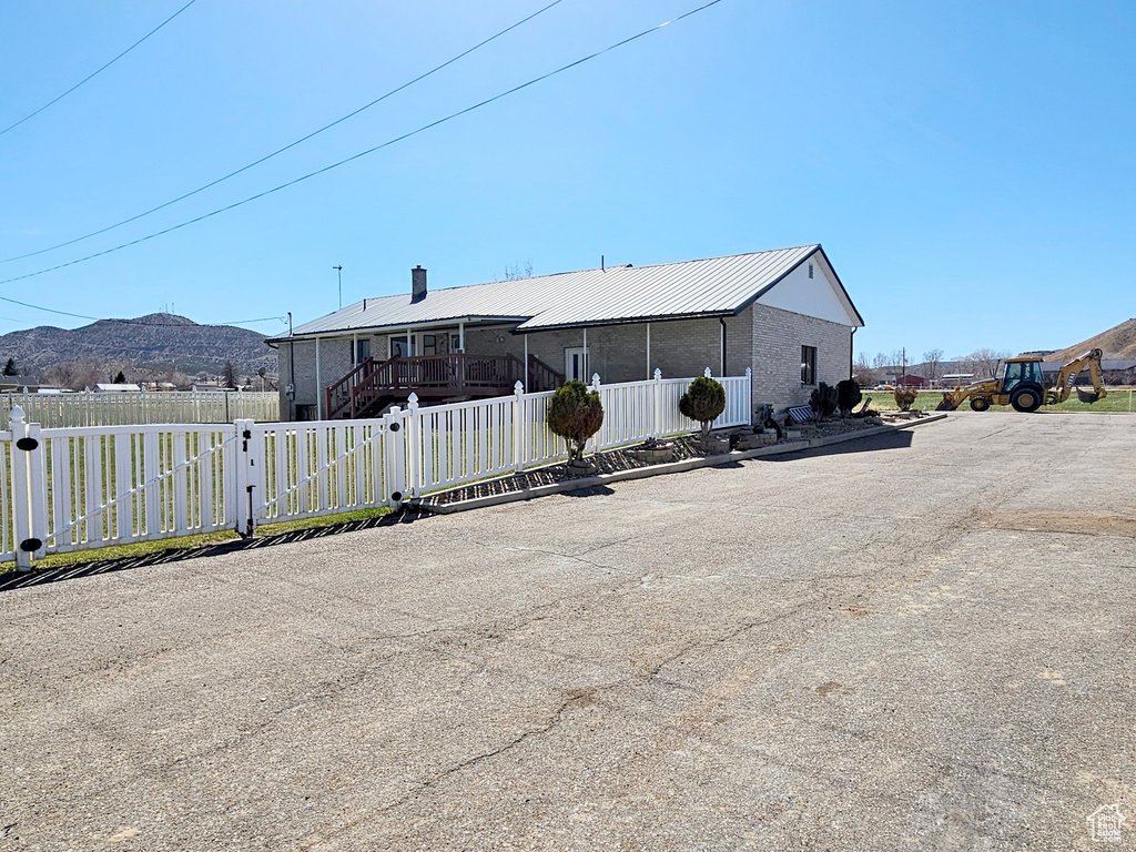
[[[415, 303], [410, 294], [366, 299], [294, 329], [307, 336], [362, 328], [400, 328], [436, 323], [512, 321], [533, 332], [585, 325], [736, 314], [815, 252], [818, 244], [686, 260], [657, 266], [616, 266], [533, 278], [431, 290]], [[825, 258], [827, 262], [827, 258]], [[828, 265], [829, 269], [832, 265]], [[835, 274], [834, 274], [835, 277]], [[863, 325], [840, 285], [851, 324]], [[277, 337], [275, 340], [287, 340]]]

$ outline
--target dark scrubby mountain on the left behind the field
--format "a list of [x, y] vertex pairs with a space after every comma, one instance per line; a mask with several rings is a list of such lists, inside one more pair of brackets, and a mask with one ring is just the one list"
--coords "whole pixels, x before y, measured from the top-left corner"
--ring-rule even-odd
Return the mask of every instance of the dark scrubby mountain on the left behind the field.
[[[227, 325], [198, 325], [173, 314], [100, 319], [82, 328], [40, 326], [0, 336], [0, 365], [16, 359], [20, 376], [42, 378], [52, 368], [84, 362], [127, 373], [218, 374], [225, 361], [239, 373], [276, 370], [265, 335]], [[103, 379], [105, 381], [105, 379]]]

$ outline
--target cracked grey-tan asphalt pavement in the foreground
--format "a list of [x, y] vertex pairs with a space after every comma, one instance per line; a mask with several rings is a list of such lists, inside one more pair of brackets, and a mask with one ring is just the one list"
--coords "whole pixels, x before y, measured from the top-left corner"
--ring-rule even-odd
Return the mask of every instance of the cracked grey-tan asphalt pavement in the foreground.
[[1099, 847], [1134, 438], [960, 412], [0, 594], [0, 849]]

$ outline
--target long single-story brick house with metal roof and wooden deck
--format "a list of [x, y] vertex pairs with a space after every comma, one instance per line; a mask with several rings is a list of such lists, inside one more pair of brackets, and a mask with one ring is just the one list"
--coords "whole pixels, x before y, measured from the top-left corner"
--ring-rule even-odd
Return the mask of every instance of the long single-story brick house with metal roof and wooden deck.
[[364, 299], [268, 341], [289, 419], [367, 417], [424, 403], [753, 370], [753, 402], [802, 404], [851, 374], [863, 319], [820, 245]]

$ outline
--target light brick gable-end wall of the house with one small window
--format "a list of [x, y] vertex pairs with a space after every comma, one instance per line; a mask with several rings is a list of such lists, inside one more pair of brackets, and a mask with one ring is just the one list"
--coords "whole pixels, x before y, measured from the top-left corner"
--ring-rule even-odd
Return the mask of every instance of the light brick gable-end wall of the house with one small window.
[[840, 323], [753, 306], [753, 404], [803, 406], [816, 385], [801, 384], [801, 346], [817, 348], [817, 382], [849, 377], [852, 328]]

